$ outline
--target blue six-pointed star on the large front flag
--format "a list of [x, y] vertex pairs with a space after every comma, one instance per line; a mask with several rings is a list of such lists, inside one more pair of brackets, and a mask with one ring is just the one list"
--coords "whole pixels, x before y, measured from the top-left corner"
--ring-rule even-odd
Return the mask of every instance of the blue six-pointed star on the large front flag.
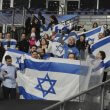
[[[50, 79], [48, 73], [46, 74], [46, 76], [44, 78], [37, 78], [37, 80], [38, 80], [38, 85], [35, 88], [42, 92], [43, 97], [45, 97], [49, 93], [56, 94], [55, 90], [54, 90], [56, 80]], [[48, 88], [43, 87], [43, 84], [46, 82], [49, 83], [50, 87], [48, 87]]]

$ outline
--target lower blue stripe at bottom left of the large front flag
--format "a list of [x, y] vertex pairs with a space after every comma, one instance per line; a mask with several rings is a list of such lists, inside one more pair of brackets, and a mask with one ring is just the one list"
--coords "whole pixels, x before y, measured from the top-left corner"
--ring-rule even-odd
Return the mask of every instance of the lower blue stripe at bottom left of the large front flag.
[[25, 91], [25, 89], [21, 86], [19, 86], [19, 93], [20, 93], [20, 95], [23, 95], [24, 99], [26, 99], [26, 100], [44, 100], [40, 97], [27, 93]]

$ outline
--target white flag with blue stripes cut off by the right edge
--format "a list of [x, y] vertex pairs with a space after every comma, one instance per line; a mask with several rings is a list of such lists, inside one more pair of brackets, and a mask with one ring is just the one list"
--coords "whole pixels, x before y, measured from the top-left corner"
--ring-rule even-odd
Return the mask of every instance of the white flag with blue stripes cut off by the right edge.
[[104, 51], [106, 58], [104, 60], [105, 68], [110, 68], [110, 36], [100, 39], [91, 46], [91, 51], [96, 55], [99, 51]]

